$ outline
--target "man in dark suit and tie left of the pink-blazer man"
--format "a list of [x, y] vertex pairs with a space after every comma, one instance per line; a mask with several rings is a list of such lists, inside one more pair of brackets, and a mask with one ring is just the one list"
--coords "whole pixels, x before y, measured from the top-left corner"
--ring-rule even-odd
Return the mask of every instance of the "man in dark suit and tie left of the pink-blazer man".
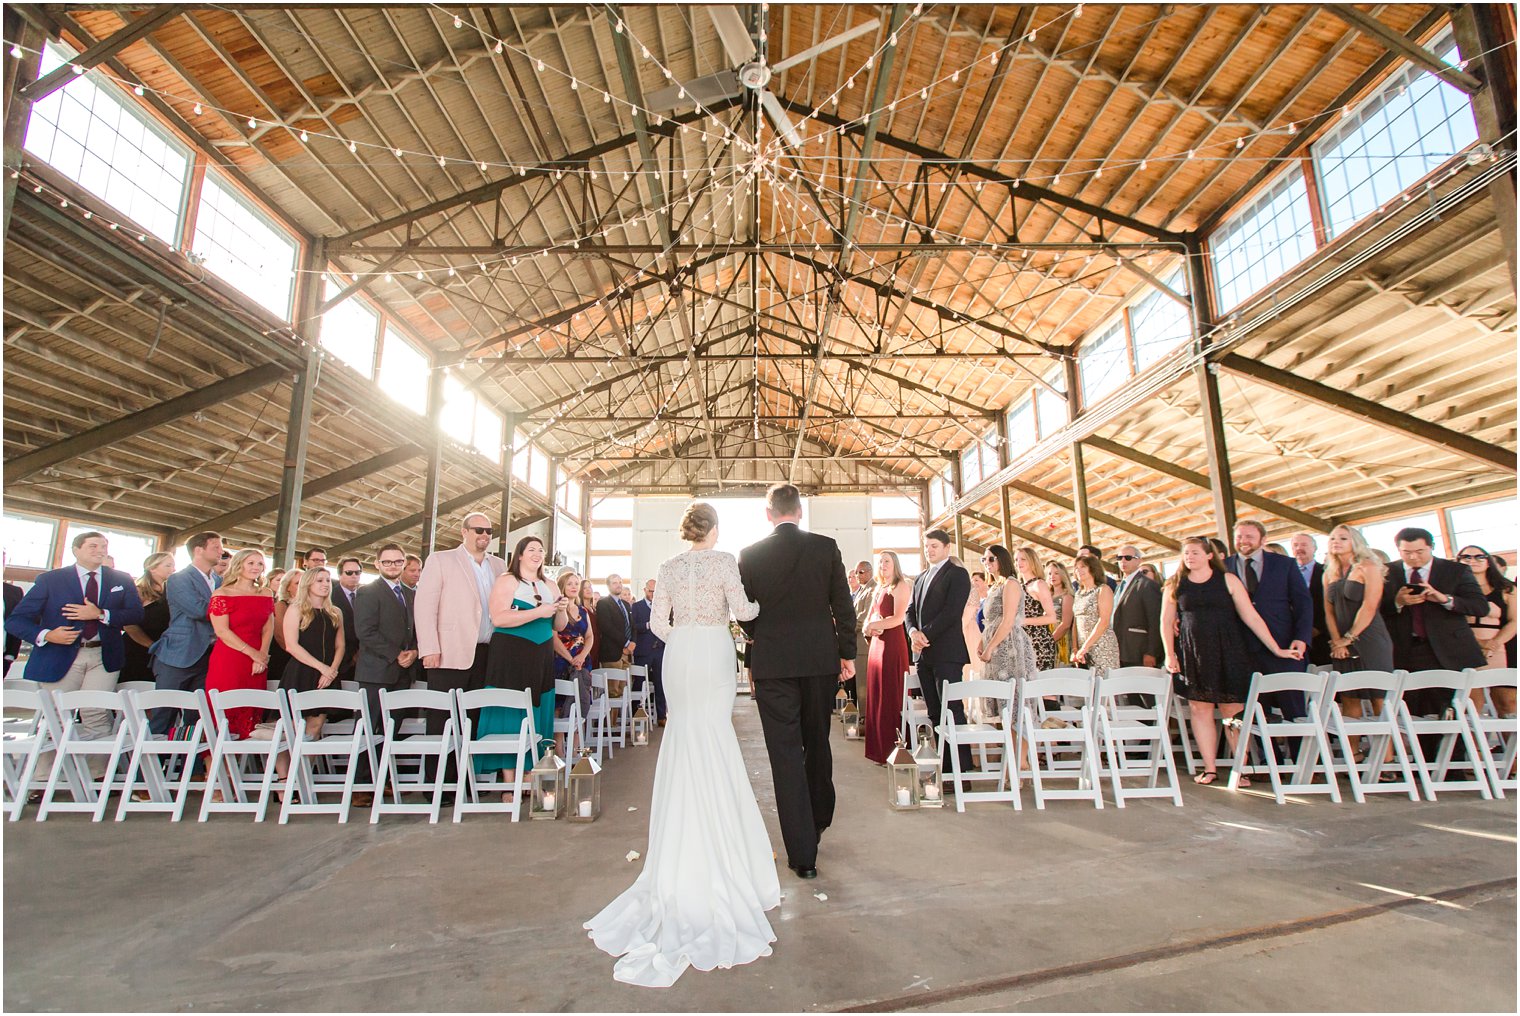
[[[410, 687], [412, 665], [416, 663], [415, 593], [401, 584], [404, 566], [406, 552], [395, 543], [385, 545], [375, 555], [380, 581], [354, 593], [354, 630], [359, 633], [354, 680], [365, 692], [371, 730], [382, 735], [385, 719], [380, 715], [380, 689], [398, 692]], [[348, 567], [348, 563], [344, 561], [339, 567]], [[360, 779], [363, 782], [365, 774]], [[357, 795], [356, 805], [368, 803], [359, 797], [369, 795]]]

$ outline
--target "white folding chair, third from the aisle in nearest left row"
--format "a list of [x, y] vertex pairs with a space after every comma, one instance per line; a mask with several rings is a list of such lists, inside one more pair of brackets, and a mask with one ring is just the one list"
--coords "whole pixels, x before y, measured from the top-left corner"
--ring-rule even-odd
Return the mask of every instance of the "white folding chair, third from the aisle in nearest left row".
[[[306, 713], [327, 710], [351, 710], [353, 718], [324, 724], [318, 738], [306, 733]], [[286, 779], [284, 802], [280, 805], [280, 824], [290, 815], [337, 815], [339, 823], [348, 821], [348, 808], [354, 791], [372, 791], [374, 783], [359, 785], [359, 760], [369, 762], [375, 773], [375, 744], [369, 727], [369, 703], [356, 684], [353, 691], [318, 687], [309, 692], [290, 692], [286, 697], [286, 725], [290, 729], [290, 774]], [[342, 730], [342, 727], [348, 727]], [[339, 730], [333, 730], [339, 727]], [[342, 782], [336, 777], [321, 779], [313, 765], [318, 759], [344, 762]], [[322, 792], [342, 791], [336, 802], [324, 802]]]

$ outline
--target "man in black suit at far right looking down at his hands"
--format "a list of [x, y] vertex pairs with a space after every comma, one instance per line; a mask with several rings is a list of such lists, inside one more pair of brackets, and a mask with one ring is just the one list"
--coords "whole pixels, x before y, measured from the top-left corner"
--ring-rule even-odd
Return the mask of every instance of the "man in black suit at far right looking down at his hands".
[[[1484, 649], [1468, 616], [1488, 613], [1488, 599], [1473, 570], [1435, 557], [1429, 529], [1408, 528], [1394, 535], [1400, 561], [1383, 581], [1383, 621], [1394, 637], [1394, 666], [1401, 671], [1461, 671], [1482, 666]], [[1417, 716], [1439, 713], [1452, 703], [1441, 691], [1406, 695]]]

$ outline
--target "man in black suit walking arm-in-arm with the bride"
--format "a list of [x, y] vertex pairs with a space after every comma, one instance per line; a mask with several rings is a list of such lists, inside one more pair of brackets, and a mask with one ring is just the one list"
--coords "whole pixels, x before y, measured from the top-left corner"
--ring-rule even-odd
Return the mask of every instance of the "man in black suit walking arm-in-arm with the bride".
[[743, 622], [754, 639], [749, 675], [775, 783], [786, 862], [818, 878], [818, 840], [834, 818], [834, 760], [828, 747], [834, 691], [854, 677], [854, 607], [839, 546], [803, 532], [803, 496], [790, 484], [766, 491], [765, 540], [739, 554], [745, 595], [760, 616]]

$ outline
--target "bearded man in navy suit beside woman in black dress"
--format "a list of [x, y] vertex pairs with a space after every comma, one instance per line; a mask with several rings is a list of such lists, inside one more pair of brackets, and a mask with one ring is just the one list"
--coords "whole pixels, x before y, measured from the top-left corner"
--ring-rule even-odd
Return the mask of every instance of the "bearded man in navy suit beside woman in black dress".
[[[1315, 605], [1309, 587], [1294, 558], [1272, 554], [1266, 543], [1266, 526], [1254, 519], [1236, 525], [1236, 552], [1225, 558], [1225, 570], [1245, 583], [1256, 611], [1271, 630], [1280, 646], [1297, 646], [1303, 660], [1284, 660], [1262, 645], [1260, 639], [1248, 639], [1251, 668], [1263, 674], [1309, 669], [1309, 642], [1315, 631]], [[1306, 703], [1301, 692], [1281, 692], [1277, 707], [1286, 718], [1304, 715]]]

